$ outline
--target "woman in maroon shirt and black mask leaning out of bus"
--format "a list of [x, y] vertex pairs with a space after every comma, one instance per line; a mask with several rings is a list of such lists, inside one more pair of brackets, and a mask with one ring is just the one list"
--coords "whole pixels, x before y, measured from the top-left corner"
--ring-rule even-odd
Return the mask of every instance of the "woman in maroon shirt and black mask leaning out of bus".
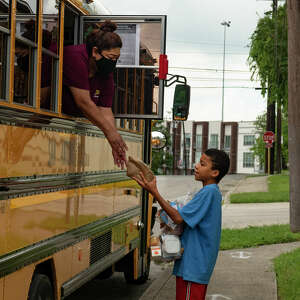
[[64, 47], [62, 111], [84, 115], [100, 128], [111, 145], [114, 163], [123, 169], [128, 148], [111, 109], [113, 71], [122, 47], [116, 28], [115, 23], [106, 21], [87, 36], [85, 44]]

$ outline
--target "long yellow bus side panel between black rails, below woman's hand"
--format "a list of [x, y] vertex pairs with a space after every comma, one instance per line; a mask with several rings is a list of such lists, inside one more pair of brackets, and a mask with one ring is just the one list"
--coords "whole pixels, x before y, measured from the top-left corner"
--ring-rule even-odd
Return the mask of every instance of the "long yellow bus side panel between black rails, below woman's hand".
[[0, 256], [136, 207], [139, 193], [133, 181], [123, 181], [1, 200], [6, 209], [0, 222], [3, 218]]

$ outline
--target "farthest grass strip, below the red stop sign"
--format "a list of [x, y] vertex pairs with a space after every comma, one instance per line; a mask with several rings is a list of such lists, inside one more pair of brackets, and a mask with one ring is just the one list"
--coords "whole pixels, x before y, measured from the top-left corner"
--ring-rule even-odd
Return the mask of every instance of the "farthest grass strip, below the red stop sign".
[[289, 194], [289, 176], [273, 175], [268, 178], [268, 192], [253, 192], [231, 194], [231, 203], [270, 203], [270, 202], [288, 202]]

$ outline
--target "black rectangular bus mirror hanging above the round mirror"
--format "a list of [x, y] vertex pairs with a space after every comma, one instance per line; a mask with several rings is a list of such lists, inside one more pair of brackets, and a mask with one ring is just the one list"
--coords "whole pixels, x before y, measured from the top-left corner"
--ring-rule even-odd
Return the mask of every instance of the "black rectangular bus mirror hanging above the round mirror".
[[173, 120], [187, 120], [190, 108], [190, 90], [191, 87], [187, 84], [177, 84], [175, 86]]

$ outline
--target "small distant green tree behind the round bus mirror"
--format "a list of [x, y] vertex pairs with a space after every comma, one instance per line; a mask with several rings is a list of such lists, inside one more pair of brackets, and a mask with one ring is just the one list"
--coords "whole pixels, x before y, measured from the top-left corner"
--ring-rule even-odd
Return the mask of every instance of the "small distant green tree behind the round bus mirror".
[[165, 151], [171, 145], [171, 135], [168, 128], [164, 125], [164, 121], [154, 121], [152, 131], [160, 131], [167, 138], [167, 144], [164, 149], [152, 150], [151, 169], [154, 174], [159, 175], [162, 174], [164, 168], [172, 168], [173, 156], [168, 151]]

